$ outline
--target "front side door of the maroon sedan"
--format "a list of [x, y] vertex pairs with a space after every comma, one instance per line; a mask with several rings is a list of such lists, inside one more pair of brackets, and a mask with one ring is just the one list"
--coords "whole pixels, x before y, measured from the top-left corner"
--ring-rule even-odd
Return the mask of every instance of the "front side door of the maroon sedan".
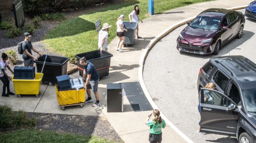
[[[228, 29], [223, 29], [223, 26], [228, 27]], [[232, 38], [232, 27], [230, 28], [230, 22], [228, 16], [223, 18], [221, 24], [221, 36], [222, 36], [222, 45], [228, 43], [228, 41]]]

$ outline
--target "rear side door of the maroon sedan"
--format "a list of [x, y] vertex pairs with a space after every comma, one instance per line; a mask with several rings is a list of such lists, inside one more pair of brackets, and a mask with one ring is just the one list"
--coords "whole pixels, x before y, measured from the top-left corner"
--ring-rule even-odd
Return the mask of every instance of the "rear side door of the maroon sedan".
[[[232, 29], [232, 37], [236, 36], [240, 28], [240, 21], [238, 15], [234, 12], [228, 14], [228, 19], [230, 22], [230, 29]], [[238, 22], [239, 21], [239, 22]], [[231, 39], [229, 39], [231, 40]]]

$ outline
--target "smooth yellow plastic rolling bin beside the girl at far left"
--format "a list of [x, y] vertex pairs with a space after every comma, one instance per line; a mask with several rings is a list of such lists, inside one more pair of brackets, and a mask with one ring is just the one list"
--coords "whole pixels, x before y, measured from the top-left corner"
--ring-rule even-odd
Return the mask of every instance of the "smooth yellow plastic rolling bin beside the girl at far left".
[[35, 79], [14, 79], [14, 75], [13, 75], [12, 81], [13, 81], [15, 94], [18, 95], [18, 97], [21, 97], [21, 94], [25, 94], [25, 95], [32, 94], [39, 97], [41, 80], [44, 75], [42, 73], [40, 77], [40, 74], [41, 73], [35, 73]]

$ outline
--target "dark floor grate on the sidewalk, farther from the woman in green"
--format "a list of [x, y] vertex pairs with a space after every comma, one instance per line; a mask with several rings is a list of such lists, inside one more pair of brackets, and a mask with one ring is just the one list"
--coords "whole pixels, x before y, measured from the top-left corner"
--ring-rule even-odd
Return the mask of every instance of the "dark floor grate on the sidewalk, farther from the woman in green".
[[123, 85], [126, 96], [144, 94], [139, 82], [123, 82]]

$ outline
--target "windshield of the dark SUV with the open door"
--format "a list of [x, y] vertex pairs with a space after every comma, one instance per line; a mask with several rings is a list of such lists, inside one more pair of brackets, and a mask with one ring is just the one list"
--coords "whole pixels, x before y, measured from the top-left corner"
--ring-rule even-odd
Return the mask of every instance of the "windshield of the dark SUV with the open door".
[[256, 112], [256, 89], [242, 90], [245, 109], [248, 112]]

